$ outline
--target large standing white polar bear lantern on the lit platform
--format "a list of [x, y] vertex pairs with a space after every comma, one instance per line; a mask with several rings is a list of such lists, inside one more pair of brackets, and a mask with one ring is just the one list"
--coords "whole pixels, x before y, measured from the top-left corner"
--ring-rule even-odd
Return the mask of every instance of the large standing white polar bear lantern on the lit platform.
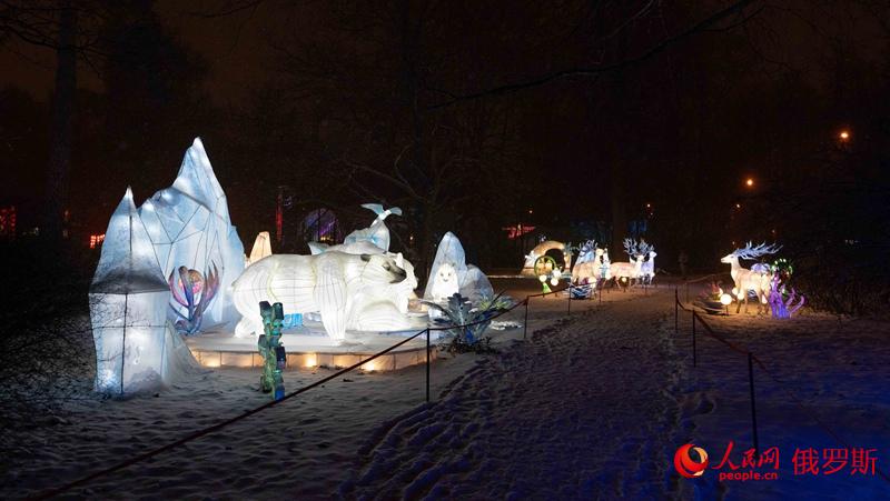
[[263, 331], [260, 301], [281, 302], [288, 313], [320, 312], [327, 334], [338, 343], [345, 341], [350, 325], [379, 327], [387, 323], [382, 317], [393, 312], [402, 318], [387, 324], [407, 325], [400, 314], [402, 298], [394, 291], [409, 285], [403, 282], [412, 278], [397, 264], [397, 258], [384, 254], [273, 254], [247, 268], [233, 284], [235, 307], [243, 317], [235, 334]]

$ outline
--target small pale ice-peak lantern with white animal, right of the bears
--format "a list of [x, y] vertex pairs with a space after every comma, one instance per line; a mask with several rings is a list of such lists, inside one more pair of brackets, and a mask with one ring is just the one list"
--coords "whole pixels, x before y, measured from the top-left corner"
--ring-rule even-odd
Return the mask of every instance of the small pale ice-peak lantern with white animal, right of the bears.
[[483, 297], [494, 294], [492, 283], [485, 273], [466, 263], [466, 254], [461, 241], [451, 231], [442, 237], [436, 250], [429, 279], [426, 282], [424, 299], [428, 301], [447, 300], [454, 293], [469, 298], [473, 303]]

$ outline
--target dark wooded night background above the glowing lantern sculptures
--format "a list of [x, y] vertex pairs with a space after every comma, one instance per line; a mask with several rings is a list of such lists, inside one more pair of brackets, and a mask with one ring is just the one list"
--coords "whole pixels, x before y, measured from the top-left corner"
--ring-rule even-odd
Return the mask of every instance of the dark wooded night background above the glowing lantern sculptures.
[[[722, 270], [733, 246], [774, 240], [820, 305], [890, 297], [881, 2], [210, 2], [195, 23], [249, 13], [245, 32], [278, 28], [263, 31], [275, 57], [250, 98], [225, 106], [206, 90], [225, 69], [160, 4], [95, 6], [79, 12], [78, 64], [102, 89], [75, 94], [68, 178], [80, 241], [127, 184], [137, 202], [168, 186], [200, 136], [247, 248], [274, 231], [286, 186], [295, 217], [332, 208], [345, 232], [370, 220], [362, 202], [402, 207], [394, 246], [418, 270], [448, 230], [482, 267], [518, 268], [528, 249], [504, 227], [622, 255], [645, 219], [660, 268], [685, 250]], [[4, 28], [0, 43], [27, 43]], [[46, 206], [53, 108], [39, 98], [0, 90], [0, 204], [21, 207], [20, 229]], [[597, 223], [602, 236], [578, 230]]]

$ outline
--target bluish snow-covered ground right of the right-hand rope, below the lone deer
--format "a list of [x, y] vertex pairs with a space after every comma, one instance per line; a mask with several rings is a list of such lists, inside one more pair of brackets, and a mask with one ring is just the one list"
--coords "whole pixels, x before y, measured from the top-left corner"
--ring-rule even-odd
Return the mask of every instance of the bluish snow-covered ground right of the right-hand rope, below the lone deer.
[[[740, 465], [752, 447], [746, 357], [700, 335], [692, 369], [691, 319], [681, 319], [675, 345], [684, 354], [682, 442], [704, 448], [718, 465], [732, 440], [730, 460]], [[753, 352], [775, 378], [754, 364], [760, 449], [777, 447], [780, 467], [777, 480], [722, 483], [709, 469], [693, 482], [698, 499], [890, 499], [890, 481], [877, 471], [890, 474], [890, 322], [808, 310], [791, 320], [731, 314], [705, 321]], [[851, 474], [849, 463], [824, 474], [824, 449], [848, 447], [876, 449], [876, 474]], [[819, 474], [795, 474], [798, 449], [818, 451]]]

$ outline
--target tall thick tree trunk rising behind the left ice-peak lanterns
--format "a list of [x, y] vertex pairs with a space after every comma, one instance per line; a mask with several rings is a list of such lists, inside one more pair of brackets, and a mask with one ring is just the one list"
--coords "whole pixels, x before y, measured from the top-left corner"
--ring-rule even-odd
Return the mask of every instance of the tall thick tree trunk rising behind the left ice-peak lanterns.
[[52, 96], [49, 163], [41, 233], [49, 240], [67, 237], [68, 174], [71, 170], [71, 121], [77, 86], [77, 13], [71, 0], [62, 2]]

